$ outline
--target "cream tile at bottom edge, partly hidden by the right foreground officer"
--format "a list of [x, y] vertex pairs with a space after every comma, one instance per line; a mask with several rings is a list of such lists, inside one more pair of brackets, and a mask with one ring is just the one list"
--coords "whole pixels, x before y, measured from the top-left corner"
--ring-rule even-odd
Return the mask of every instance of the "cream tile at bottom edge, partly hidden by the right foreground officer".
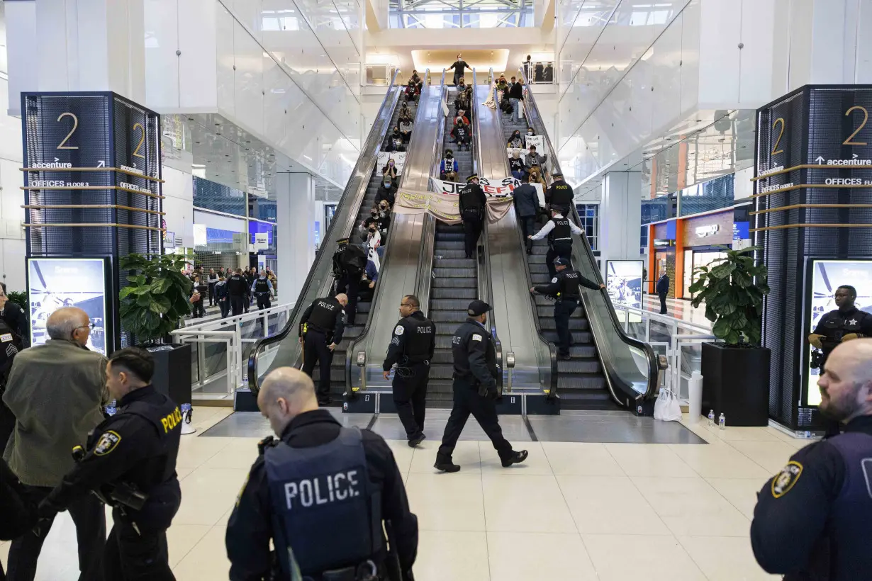
[[760, 569], [751, 540], [742, 537], [678, 537], [709, 581], [766, 581], [780, 579]]

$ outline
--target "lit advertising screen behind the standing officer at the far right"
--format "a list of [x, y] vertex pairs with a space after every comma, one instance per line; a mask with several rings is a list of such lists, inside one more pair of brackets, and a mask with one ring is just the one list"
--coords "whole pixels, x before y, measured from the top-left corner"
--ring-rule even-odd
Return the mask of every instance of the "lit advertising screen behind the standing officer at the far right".
[[[850, 285], [857, 289], [855, 307], [872, 313], [872, 260], [812, 260], [811, 301], [807, 301], [809, 312], [806, 320], [809, 327], [803, 332], [803, 339], [810, 334], [824, 314], [835, 310], [835, 289]], [[811, 346], [807, 350], [807, 402], [809, 406], [821, 403], [821, 392], [817, 387], [819, 369], [811, 368]]]

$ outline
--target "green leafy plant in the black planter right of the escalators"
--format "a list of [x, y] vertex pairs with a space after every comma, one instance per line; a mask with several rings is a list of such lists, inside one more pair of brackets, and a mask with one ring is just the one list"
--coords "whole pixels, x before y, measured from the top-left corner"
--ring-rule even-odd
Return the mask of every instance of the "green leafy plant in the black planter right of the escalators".
[[726, 250], [726, 258], [712, 267], [693, 270], [699, 278], [691, 285], [691, 304], [705, 301], [705, 318], [714, 323], [712, 334], [728, 345], [760, 345], [763, 297], [769, 293], [766, 266], [748, 256], [760, 247]]

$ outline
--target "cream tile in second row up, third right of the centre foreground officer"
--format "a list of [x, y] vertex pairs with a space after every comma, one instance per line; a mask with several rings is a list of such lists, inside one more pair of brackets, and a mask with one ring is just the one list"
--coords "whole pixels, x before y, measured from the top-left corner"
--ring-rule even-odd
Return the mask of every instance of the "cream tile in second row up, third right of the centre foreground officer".
[[670, 535], [627, 476], [557, 476], [582, 534]]

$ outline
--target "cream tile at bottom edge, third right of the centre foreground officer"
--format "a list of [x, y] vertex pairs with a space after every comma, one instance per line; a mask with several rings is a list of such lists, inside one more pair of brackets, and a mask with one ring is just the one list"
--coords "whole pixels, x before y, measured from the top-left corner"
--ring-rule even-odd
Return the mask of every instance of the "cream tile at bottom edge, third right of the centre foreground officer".
[[599, 581], [705, 581], [675, 537], [582, 535]]

